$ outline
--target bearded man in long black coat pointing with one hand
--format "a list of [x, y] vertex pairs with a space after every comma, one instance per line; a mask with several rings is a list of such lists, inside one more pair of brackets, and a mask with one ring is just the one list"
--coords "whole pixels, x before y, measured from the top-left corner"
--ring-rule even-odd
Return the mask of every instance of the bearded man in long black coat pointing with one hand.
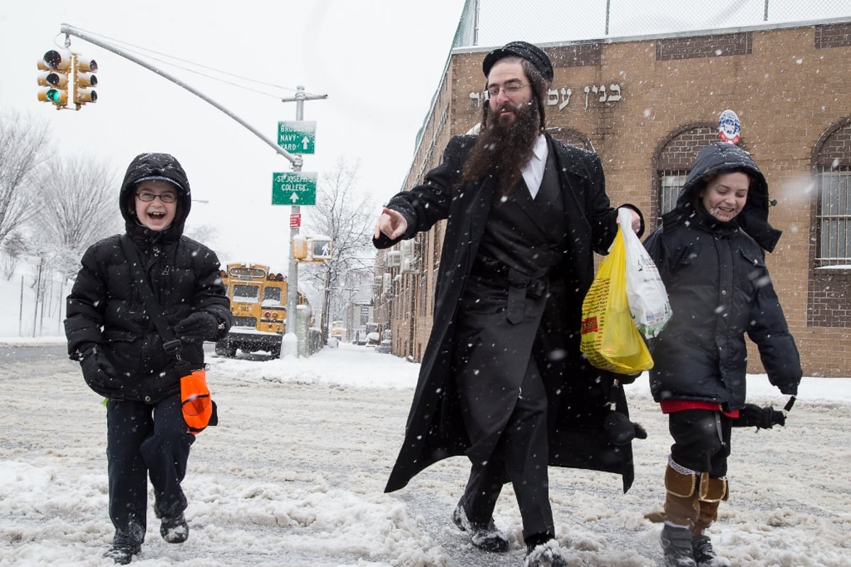
[[[624, 490], [633, 478], [633, 435], [624, 441], [603, 427], [610, 396], [626, 415], [624, 394], [580, 354], [592, 252], [608, 252], [617, 211], [599, 157], [545, 131], [553, 80], [547, 54], [508, 43], [485, 56], [483, 71], [479, 133], [454, 136], [443, 163], [393, 196], [375, 226], [374, 246], [386, 248], [447, 221], [434, 324], [386, 491], [465, 455], [470, 478], [452, 519], [473, 545], [511, 547], [493, 519], [510, 481], [523, 518], [524, 565], [566, 565], [548, 465], [620, 473]], [[631, 229], [640, 234], [642, 217], [631, 209]]]

